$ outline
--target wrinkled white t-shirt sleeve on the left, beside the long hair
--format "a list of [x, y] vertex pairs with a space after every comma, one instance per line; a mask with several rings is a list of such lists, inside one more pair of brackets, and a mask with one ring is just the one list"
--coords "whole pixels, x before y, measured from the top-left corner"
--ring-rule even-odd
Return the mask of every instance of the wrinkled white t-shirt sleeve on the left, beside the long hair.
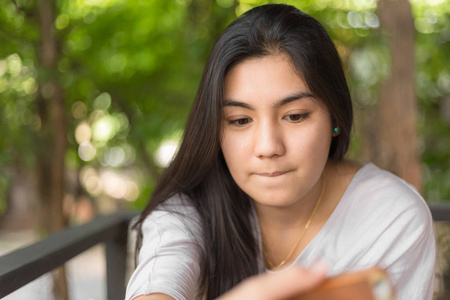
[[201, 226], [192, 206], [167, 200], [142, 226], [138, 266], [127, 286], [126, 300], [151, 293], [193, 299], [200, 277]]

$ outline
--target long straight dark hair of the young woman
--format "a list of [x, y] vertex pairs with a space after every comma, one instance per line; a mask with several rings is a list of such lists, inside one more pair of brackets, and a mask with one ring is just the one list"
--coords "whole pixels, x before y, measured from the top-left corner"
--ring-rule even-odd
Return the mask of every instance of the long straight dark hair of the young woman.
[[268, 4], [246, 12], [223, 31], [205, 66], [178, 154], [135, 224], [139, 251], [142, 223], [155, 207], [176, 194], [189, 198], [203, 226], [202, 298], [214, 299], [258, 273], [251, 199], [228, 171], [220, 149], [220, 124], [227, 71], [250, 57], [272, 54], [289, 55], [339, 128], [329, 158], [342, 159], [349, 145], [350, 94], [339, 55], [318, 21], [293, 6]]

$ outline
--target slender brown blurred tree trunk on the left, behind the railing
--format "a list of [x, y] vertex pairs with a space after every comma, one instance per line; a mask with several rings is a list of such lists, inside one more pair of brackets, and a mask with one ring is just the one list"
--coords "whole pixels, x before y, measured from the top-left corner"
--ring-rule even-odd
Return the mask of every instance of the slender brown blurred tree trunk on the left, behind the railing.
[[[39, 232], [42, 236], [63, 229], [64, 157], [67, 147], [66, 116], [63, 89], [58, 82], [58, 47], [53, 34], [55, 17], [52, 0], [39, 0], [41, 50], [39, 65], [43, 75], [39, 81], [36, 107], [41, 119], [36, 152], [39, 192]], [[53, 272], [55, 299], [68, 299], [65, 268]]]

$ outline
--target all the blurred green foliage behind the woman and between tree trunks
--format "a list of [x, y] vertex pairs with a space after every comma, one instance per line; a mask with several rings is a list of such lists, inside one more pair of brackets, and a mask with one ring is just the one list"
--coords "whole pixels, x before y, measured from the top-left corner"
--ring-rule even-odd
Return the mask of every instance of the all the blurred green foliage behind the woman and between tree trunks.
[[[376, 106], [390, 56], [375, 1], [56, 1], [57, 69], [69, 125], [66, 162], [89, 179], [81, 180], [87, 194], [106, 193], [106, 183], [98, 183], [104, 174], [125, 174], [131, 181], [120, 182], [134, 192], [106, 194], [144, 205], [154, 186], [149, 168], [160, 171], [153, 154], [182, 131], [215, 38], [236, 15], [269, 2], [294, 4], [319, 19], [342, 56], [357, 110]], [[450, 94], [450, 8], [445, 2], [412, 4], [425, 196], [450, 199], [450, 125], [442, 117], [442, 99]], [[35, 5], [0, 0], [0, 170], [34, 168], [41, 126], [35, 99], [52, 93], [40, 85], [48, 74], [39, 66]], [[362, 144], [357, 131], [352, 157], [362, 155]]]

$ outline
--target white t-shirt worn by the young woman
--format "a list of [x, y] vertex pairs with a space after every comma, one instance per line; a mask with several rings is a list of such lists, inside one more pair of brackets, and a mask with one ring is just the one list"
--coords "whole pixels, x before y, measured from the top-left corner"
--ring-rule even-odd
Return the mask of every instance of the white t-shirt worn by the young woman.
[[[198, 214], [179, 197], [165, 203], [182, 215], [158, 210], [145, 220], [127, 300], [156, 292], [175, 299], [195, 297], [201, 256]], [[256, 214], [253, 218], [261, 247]], [[319, 258], [332, 263], [330, 276], [377, 265], [388, 271], [398, 300], [432, 299], [435, 239], [428, 206], [409, 184], [366, 164], [295, 263], [308, 266]], [[262, 260], [259, 267], [265, 270]]]

